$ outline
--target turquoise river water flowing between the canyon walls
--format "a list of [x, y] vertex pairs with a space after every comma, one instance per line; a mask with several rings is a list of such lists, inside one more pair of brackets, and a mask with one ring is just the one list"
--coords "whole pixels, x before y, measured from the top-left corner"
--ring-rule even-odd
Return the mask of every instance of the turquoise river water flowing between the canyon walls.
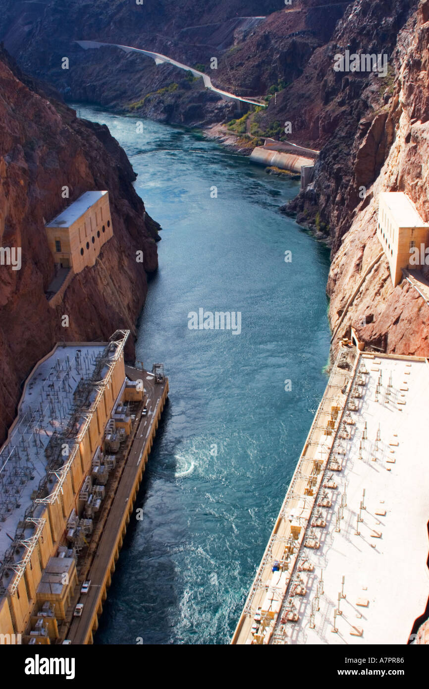
[[[170, 383], [95, 641], [227, 644], [326, 386], [328, 251], [278, 212], [299, 183], [195, 132], [78, 110], [125, 148], [163, 227], [136, 351]], [[189, 329], [200, 308], [240, 311], [240, 334]]]

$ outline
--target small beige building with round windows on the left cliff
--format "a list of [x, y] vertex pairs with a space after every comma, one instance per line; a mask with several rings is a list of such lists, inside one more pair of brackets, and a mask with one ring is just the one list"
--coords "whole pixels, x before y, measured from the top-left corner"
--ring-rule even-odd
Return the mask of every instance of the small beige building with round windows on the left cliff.
[[94, 265], [113, 236], [109, 192], [85, 192], [45, 227], [56, 265], [74, 273]]

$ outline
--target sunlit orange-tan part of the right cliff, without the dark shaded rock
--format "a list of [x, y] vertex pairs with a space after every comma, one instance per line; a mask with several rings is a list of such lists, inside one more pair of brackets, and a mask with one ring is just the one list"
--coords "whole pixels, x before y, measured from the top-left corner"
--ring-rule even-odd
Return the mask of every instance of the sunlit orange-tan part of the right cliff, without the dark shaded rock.
[[[364, 183], [366, 151], [368, 161], [385, 156], [385, 162], [333, 258], [328, 281], [333, 327], [366, 267], [381, 251], [375, 235], [379, 193], [406, 192], [423, 219], [429, 219], [429, 23], [423, 20], [420, 10], [399, 33], [393, 95], [372, 121], [373, 140], [366, 136], [355, 157], [353, 185]], [[379, 126], [382, 121], [384, 127]], [[344, 335], [350, 325], [359, 338], [383, 351], [429, 356], [429, 305], [406, 280], [393, 289], [384, 256], [366, 278], [337, 335]]]

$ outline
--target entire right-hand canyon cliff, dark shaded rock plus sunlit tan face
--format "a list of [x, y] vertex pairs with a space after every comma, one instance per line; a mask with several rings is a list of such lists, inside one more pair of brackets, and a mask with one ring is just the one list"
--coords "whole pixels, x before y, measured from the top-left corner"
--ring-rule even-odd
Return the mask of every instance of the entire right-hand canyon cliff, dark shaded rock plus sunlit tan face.
[[[331, 43], [313, 54], [304, 74], [277, 99], [279, 112], [286, 110], [297, 125], [296, 141], [320, 149], [314, 183], [284, 210], [317, 227], [331, 245], [327, 293], [333, 330], [381, 251], [379, 193], [406, 192], [429, 220], [428, 44], [428, 0], [392, 0], [388, 17], [382, 3], [357, 1]], [[386, 78], [335, 72], [333, 56], [348, 45], [356, 52], [388, 54]], [[350, 325], [367, 345], [429, 356], [429, 306], [404, 280], [393, 289], [384, 256], [348, 308], [334, 353]]]

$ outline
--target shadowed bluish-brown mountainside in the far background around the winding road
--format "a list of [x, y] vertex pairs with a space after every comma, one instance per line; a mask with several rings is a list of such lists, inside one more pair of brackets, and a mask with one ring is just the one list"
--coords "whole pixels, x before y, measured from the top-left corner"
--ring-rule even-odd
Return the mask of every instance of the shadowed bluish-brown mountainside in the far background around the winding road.
[[118, 110], [132, 105], [157, 121], [207, 125], [231, 120], [235, 106], [205, 90], [202, 79], [118, 48], [85, 51], [76, 41], [160, 52], [207, 72], [219, 88], [259, 96], [302, 74], [346, 7], [331, 0], [293, 0], [291, 7], [284, 0], [3, 0], [0, 40], [26, 73], [49, 81], [65, 99]]

